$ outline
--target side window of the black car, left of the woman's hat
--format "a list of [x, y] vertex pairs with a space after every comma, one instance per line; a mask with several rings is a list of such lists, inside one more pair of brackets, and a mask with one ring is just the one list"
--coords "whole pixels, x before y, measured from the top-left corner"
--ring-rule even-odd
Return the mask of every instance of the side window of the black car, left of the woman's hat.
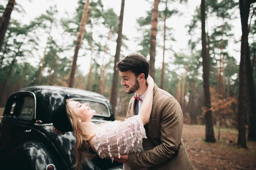
[[35, 113], [35, 99], [32, 96], [20, 96], [15, 104], [14, 118], [32, 120]]

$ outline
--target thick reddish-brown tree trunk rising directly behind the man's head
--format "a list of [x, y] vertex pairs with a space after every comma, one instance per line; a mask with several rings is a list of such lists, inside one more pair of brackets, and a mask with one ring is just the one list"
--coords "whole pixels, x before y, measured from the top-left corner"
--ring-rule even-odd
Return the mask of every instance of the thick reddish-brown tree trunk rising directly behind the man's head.
[[150, 76], [155, 78], [155, 57], [156, 57], [156, 41], [157, 41], [157, 18], [158, 18], [158, 5], [160, 0], [154, 0], [154, 9], [151, 17], [151, 37], [150, 37], [150, 61], [149, 70]]

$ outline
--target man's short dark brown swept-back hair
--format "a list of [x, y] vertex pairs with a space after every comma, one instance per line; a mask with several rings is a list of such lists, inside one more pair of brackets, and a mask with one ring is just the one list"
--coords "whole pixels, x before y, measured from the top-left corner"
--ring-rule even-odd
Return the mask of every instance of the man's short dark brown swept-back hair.
[[145, 79], [147, 79], [149, 74], [149, 62], [143, 55], [132, 53], [116, 63], [116, 70], [121, 72], [131, 70], [136, 77], [143, 73], [145, 74]]

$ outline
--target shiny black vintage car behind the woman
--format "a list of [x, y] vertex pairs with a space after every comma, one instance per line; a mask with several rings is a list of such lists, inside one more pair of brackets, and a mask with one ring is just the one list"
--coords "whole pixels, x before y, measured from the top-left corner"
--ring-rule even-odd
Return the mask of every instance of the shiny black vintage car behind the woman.
[[[65, 94], [94, 108], [96, 124], [114, 120], [110, 103], [100, 94], [57, 86], [23, 88], [9, 97], [0, 119], [1, 170], [74, 169], [74, 133], [57, 134], [51, 122], [51, 113]], [[122, 170], [122, 164], [96, 155], [85, 160], [83, 169]]]

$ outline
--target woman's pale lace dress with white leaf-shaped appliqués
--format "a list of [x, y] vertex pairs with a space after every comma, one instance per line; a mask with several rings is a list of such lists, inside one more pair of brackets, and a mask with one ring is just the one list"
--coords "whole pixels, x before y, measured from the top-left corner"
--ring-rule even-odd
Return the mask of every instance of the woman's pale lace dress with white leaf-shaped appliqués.
[[[102, 159], [108, 156], [113, 161], [116, 156], [143, 150], [142, 139], [147, 137], [140, 116], [130, 117], [124, 122], [109, 122], [103, 127], [93, 139], [94, 147]], [[130, 170], [128, 164], [124, 164], [124, 170]]]

